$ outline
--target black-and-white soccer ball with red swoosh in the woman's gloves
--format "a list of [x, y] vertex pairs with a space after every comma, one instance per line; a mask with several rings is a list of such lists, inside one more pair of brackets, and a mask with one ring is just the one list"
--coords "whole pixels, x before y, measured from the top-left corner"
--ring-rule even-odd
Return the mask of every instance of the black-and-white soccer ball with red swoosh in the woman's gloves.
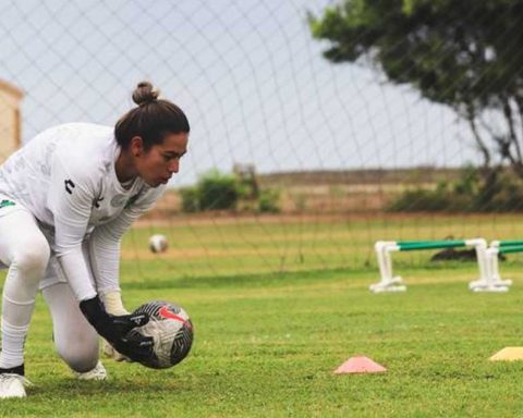
[[153, 356], [141, 361], [153, 369], [167, 369], [182, 361], [193, 344], [193, 323], [187, 312], [170, 302], [153, 300], [138, 307], [133, 315], [147, 314], [149, 322], [131, 331], [151, 336]]

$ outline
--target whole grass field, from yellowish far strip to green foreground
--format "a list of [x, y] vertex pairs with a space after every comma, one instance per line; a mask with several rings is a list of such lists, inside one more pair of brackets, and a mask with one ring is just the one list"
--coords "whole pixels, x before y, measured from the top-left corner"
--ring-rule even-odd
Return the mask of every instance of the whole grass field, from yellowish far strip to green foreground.
[[[496, 229], [513, 237], [515, 221], [498, 220]], [[416, 222], [421, 225], [418, 220], [411, 228], [419, 237]], [[429, 224], [435, 234], [452, 230], [449, 220]], [[430, 254], [397, 260], [406, 293], [370, 294], [368, 285], [378, 278], [372, 261], [364, 267], [370, 260], [366, 239], [394, 228], [402, 238], [411, 237], [402, 225], [366, 220], [349, 226], [172, 225], [163, 231], [170, 253], [160, 258], [143, 250], [150, 230], [136, 229], [124, 242], [126, 305], [156, 298], [183, 305], [196, 335], [187, 359], [163, 371], [106, 360], [109, 381], [76, 381], [54, 354], [39, 298], [26, 347], [34, 386], [26, 399], [2, 401], [0, 416], [521, 416], [523, 362], [488, 357], [523, 345], [522, 259], [511, 257], [501, 266], [503, 276], [514, 279], [507, 294], [469, 292], [475, 265], [433, 266]], [[466, 228], [459, 219], [454, 226]], [[305, 236], [317, 239], [313, 245]], [[251, 243], [255, 250], [245, 256]], [[279, 268], [283, 251], [290, 256]], [[294, 257], [300, 251], [302, 257]], [[357, 354], [388, 371], [332, 373]]]

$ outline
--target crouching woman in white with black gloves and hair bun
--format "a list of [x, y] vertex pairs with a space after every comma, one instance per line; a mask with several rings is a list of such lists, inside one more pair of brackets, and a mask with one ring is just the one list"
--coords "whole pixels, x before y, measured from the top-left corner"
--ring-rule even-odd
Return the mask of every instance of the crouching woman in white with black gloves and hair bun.
[[2, 295], [0, 397], [23, 397], [24, 342], [35, 296], [49, 306], [53, 339], [81, 379], [104, 379], [98, 334], [133, 360], [153, 341], [127, 339], [148, 318], [130, 316], [119, 286], [120, 241], [149, 210], [186, 152], [183, 111], [149, 83], [114, 128], [72, 123], [37, 135], [0, 167]]

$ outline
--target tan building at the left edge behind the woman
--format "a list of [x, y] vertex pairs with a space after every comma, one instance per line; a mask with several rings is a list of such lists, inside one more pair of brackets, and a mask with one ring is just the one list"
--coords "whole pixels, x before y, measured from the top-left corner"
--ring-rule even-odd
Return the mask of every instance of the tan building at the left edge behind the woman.
[[22, 144], [20, 102], [24, 94], [0, 79], [0, 162]]

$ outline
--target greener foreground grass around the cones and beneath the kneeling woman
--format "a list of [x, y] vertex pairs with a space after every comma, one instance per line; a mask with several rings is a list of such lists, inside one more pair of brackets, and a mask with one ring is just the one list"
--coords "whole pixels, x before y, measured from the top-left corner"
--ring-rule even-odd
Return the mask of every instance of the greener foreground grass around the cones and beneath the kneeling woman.
[[[107, 382], [78, 382], [53, 354], [39, 300], [27, 342], [24, 401], [0, 416], [330, 417], [518, 416], [523, 364], [487, 358], [521, 345], [523, 293], [466, 290], [471, 268], [434, 278], [413, 269], [405, 294], [374, 295], [364, 271], [324, 271], [124, 286], [130, 307], [181, 303], [196, 340], [187, 359], [163, 371], [106, 361]], [[433, 279], [436, 279], [433, 283]], [[384, 374], [335, 376], [364, 354]]]

